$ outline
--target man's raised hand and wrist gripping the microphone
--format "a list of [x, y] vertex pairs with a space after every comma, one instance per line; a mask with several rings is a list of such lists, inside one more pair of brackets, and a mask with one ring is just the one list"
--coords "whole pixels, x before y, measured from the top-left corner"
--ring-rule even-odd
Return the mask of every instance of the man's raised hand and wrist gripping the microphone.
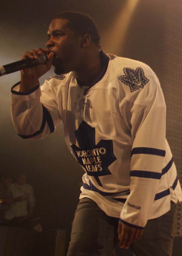
[[37, 86], [39, 78], [50, 70], [54, 52], [50, 52], [48, 49], [43, 50], [41, 48], [37, 48], [36, 50], [31, 50], [23, 55], [21, 60], [25, 60], [27, 58], [39, 59], [39, 54], [43, 54], [43, 52], [48, 54], [48, 60], [45, 64], [21, 70], [20, 92], [27, 92]]

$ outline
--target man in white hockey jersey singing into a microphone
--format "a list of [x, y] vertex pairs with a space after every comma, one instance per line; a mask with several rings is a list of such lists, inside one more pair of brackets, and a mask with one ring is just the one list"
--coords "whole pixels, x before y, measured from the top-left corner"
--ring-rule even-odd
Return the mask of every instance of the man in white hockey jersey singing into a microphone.
[[[111, 256], [118, 241], [135, 256], [170, 256], [182, 192], [160, 83], [148, 65], [105, 54], [99, 40], [88, 15], [57, 15], [47, 49], [23, 55], [46, 52], [48, 60], [21, 70], [12, 87], [13, 124], [22, 138], [42, 139], [63, 122], [85, 171], [68, 256]], [[56, 75], [39, 86], [51, 65]]]

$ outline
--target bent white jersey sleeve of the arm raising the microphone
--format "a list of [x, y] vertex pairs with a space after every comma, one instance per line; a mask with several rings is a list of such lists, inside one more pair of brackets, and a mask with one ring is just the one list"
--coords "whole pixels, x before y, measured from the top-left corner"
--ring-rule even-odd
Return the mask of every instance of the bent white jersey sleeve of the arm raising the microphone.
[[54, 132], [61, 121], [58, 87], [47, 80], [43, 86], [38, 85], [27, 93], [19, 92], [19, 87], [17, 83], [11, 89], [11, 116], [15, 130], [23, 139], [43, 139]]

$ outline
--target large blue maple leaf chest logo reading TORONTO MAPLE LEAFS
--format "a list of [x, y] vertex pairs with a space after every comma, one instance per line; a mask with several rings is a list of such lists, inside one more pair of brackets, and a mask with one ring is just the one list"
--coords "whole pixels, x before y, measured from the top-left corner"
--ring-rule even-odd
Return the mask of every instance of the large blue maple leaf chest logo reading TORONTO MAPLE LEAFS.
[[101, 139], [95, 144], [95, 128], [83, 121], [75, 131], [79, 147], [71, 145], [79, 162], [90, 176], [111, 174], [108, 166], [116, 160], [112, 140]]

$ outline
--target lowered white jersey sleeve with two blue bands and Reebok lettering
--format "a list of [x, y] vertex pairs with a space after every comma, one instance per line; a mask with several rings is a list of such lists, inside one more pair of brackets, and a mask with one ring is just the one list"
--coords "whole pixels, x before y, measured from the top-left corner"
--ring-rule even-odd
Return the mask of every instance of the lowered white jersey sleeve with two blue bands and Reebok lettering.
[[[150, 71], [149, 82], [124, 99], [124, 109], [131, 127], [130, 195], [120, 214], [120, 221], [143, 229], [154, 203], [162, 176], [165, 157], [166, 105], [159, 80]], [[134, 99], [135, 100], [132, 100]], [[122, 109], [122, 108], [121, 108]]]

